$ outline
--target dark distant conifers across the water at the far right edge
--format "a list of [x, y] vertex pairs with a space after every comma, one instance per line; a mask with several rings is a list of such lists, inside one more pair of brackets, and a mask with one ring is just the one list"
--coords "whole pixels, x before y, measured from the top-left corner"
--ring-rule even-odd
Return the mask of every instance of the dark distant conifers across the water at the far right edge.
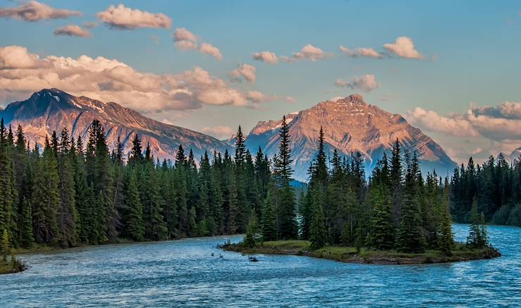
[[467, 166], [455, 168], [450, 181], [450, 204], [455, 221], [468, 223], [472, 205], [484, 214], [484, 221], [521, 226], [521, 160], [509, 164], [503, 154], [481, 166], [472, 157]]

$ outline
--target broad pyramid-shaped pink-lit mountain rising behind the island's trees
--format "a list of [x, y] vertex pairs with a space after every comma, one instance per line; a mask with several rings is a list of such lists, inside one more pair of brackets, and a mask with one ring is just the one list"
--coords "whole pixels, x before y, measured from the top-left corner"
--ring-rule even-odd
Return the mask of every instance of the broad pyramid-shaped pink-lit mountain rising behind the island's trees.
[[[446, 175], [456, 166], [439, 144], [412, 127], [403, 116], [367, 104], [360, 94], [322, 101], [310, 109], [288, 114], [286, 121], [289, 123], [296, 180], [307, 180], [309, 163], [317, 154], [321, 126], [330, 155], [333, 149], [338, 149], [343, 156], [358, 151], [364, 156], [367, 171], [374, 167], [384, 152], [390, 152], [397, 138], [407, 149], [417, 150], [423, 171], [436, 170], [439, 175]], [[261, 147], [268, 156], [273, 156], [278, 151], [280, 127], [281, 120], [257, 123], [247, 135], [247, 148], [255, 153]]]

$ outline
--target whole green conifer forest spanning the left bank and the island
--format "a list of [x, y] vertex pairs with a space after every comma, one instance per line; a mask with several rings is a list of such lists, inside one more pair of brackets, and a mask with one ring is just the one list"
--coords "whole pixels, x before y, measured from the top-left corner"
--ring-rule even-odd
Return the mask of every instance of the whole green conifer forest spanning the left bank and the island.
[[[109, 147], [97, 120], [85, 145], [63, 128], [46, 137], [40, 149], [22, 127], [13, 132], [2, 119], [3, 241], [30, 249], [247, 233], [245, 242], [300, 238], [314, 247], [328, 243], [450, 254], [449, 209], [458, 190], [450, 191], [459, 185], [459, 173], [450, 183], [436, 173], [424, 179], [417, 154], [401, 149], [396, 140], [391, 157], [384, 154], [366, 177], [360, 153], [333, 152], [327, 161], [321, 130], [309, 185], [295, 196], [285, 118], [279, 137], [278, 154], [268, 159], [261, 149], [255, 155], [247, 151], [239, 127], [234, 155], [205, 153], [197, 166], [182, 144], [174, 161], [159, 161], [139, 135], [125, 155], [120, 140]], [[459, 206], [453, 201], [452, 207], [458, 217]], [[477, 205], [471, 204], [468, 213], [472, 209], [475, 215], [467, 221], [483, 235], [479, 245], [488, 245]], [[470, 242], [477, 243], [475, 236]]]

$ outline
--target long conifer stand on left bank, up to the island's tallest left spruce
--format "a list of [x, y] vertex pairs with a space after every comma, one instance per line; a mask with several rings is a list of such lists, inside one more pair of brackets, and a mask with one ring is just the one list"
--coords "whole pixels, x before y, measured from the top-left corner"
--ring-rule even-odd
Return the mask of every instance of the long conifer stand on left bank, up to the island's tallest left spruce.
[[244, 233], [269, 199], [277, 237], [295, 237], [289, 155], [253, 156], [240, 127], [235, 139], [235, 156], [205, 152], [197, 167], [181, 144], [174, 161], [154, 159], [137, 134], [127, 156], [121, 140], [110, 150], [97, 120], [86, 145], [63, 128], [40, 149], [2, 119], [0, 230], [11, 247], [25, 248]]

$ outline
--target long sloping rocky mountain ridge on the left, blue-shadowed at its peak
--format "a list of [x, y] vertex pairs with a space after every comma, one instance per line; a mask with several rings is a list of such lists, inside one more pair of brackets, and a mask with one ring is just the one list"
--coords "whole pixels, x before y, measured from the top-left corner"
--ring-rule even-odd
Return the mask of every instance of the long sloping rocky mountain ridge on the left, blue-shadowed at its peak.
[[63, 128], [68, 128], [74, 137], [81, 135], [85, 140], [90, 123], [98, 119], [104, 126], [109, 147], [114, 147], [120, 137], [125, 152], [132, 147], [136, 133], [142, 136], [143, 147], [149, 142], [152, 154], [159, 159], [173, 159], [179, 144], [183, 144], [187, 152], [192, 149], [196, 159], [205, 150], [209, 154], [214, 150], [233, 150], [229, 144], [214, 137], [152, 120], [114, 102], [75, 97], [57, 89], [44, 89], [25, 101], [8, 104], [6, 109], [0, 110], [0, 116], [4, 117], [6, 125], [11, 124], [13, 130], [18, 124], [22, 125], [31, 144], [34, 141], [43, 144], [45, 135], [50, 137], [53, 130], [59, 134]]

